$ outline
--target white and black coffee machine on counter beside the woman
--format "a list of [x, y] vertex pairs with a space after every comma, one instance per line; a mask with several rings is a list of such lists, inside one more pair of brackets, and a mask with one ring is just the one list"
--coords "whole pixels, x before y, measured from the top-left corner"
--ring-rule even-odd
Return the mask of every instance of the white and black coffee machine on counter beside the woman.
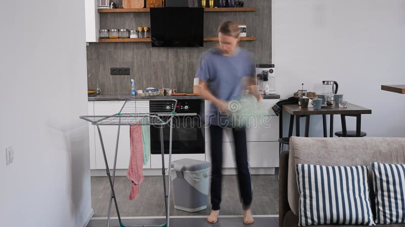
[[260, 94], [275, 94], [274, 64], [256, 65], [256, 85]]

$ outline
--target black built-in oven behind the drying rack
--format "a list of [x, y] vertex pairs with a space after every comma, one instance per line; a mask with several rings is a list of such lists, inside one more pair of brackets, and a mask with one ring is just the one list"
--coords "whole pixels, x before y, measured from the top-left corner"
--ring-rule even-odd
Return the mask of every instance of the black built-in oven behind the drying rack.
[[[155, 100], [149, 102], [153, 104]], [[172, 154], [204, 154], [204, 123], [200, 109], [201, 99], [177, 99], [176, 116], [173, 118]], [[165, 154], [169, 153], [170, 126], [163, 126]], [[150, 152], [161, 154], [160, 128], [150, 126]]]

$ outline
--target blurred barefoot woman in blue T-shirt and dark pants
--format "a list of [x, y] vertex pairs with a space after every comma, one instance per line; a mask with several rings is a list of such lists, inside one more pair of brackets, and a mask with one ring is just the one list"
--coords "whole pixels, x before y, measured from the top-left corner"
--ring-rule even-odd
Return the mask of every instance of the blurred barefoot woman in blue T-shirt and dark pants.
[[[203, 53], [196, 77], [200, 79], [200, 93], [210, 100], [208, 124], [211, 134], [211, 203], [212, 211], [207, 220], [218, 220], [222, 183], [222, 129], [229, 127], [226, 119], [228, 102], [235, 100], [246, 89], [246, 81], [254, 81], [254, 59], [252, 54], [239, 48], [238, 24], [232, 21], [218, 28], [219, 45]], [[260, 101], [261, 96], [254, 94]], [[232, 128], [235, 141], [235, 157], [239, 192], [244, 209], [244, 223], [252, 224], [252, 182], [248, 165], [245, 128]]]

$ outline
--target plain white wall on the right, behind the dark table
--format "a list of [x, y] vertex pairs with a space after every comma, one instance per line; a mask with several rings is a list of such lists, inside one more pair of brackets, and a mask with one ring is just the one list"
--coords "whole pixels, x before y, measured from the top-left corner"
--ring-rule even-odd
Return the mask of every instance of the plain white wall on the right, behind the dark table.
[[[273, 63], [282, 97], [292, 96], [301, 83], [320, 92], [322, 80], [336, 80], [349, 102], [372, 109], [362, 118], [369, 136], [405, 136], [405, 95], [381, 90], [382, 84], [405, 84], [405, 1], [273, 0], [272, 13]], [[311, 121], [310, 136], [322, 136], [321, 118]], [[355, 129], [353, 118], [347, 126]]]

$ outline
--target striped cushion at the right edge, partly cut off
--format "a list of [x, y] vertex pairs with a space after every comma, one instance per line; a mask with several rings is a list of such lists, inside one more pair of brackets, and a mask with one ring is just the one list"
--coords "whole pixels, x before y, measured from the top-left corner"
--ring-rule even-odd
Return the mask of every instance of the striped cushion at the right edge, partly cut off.
[[405, 223], [405, 165], [372, 162], [376, 223]]

